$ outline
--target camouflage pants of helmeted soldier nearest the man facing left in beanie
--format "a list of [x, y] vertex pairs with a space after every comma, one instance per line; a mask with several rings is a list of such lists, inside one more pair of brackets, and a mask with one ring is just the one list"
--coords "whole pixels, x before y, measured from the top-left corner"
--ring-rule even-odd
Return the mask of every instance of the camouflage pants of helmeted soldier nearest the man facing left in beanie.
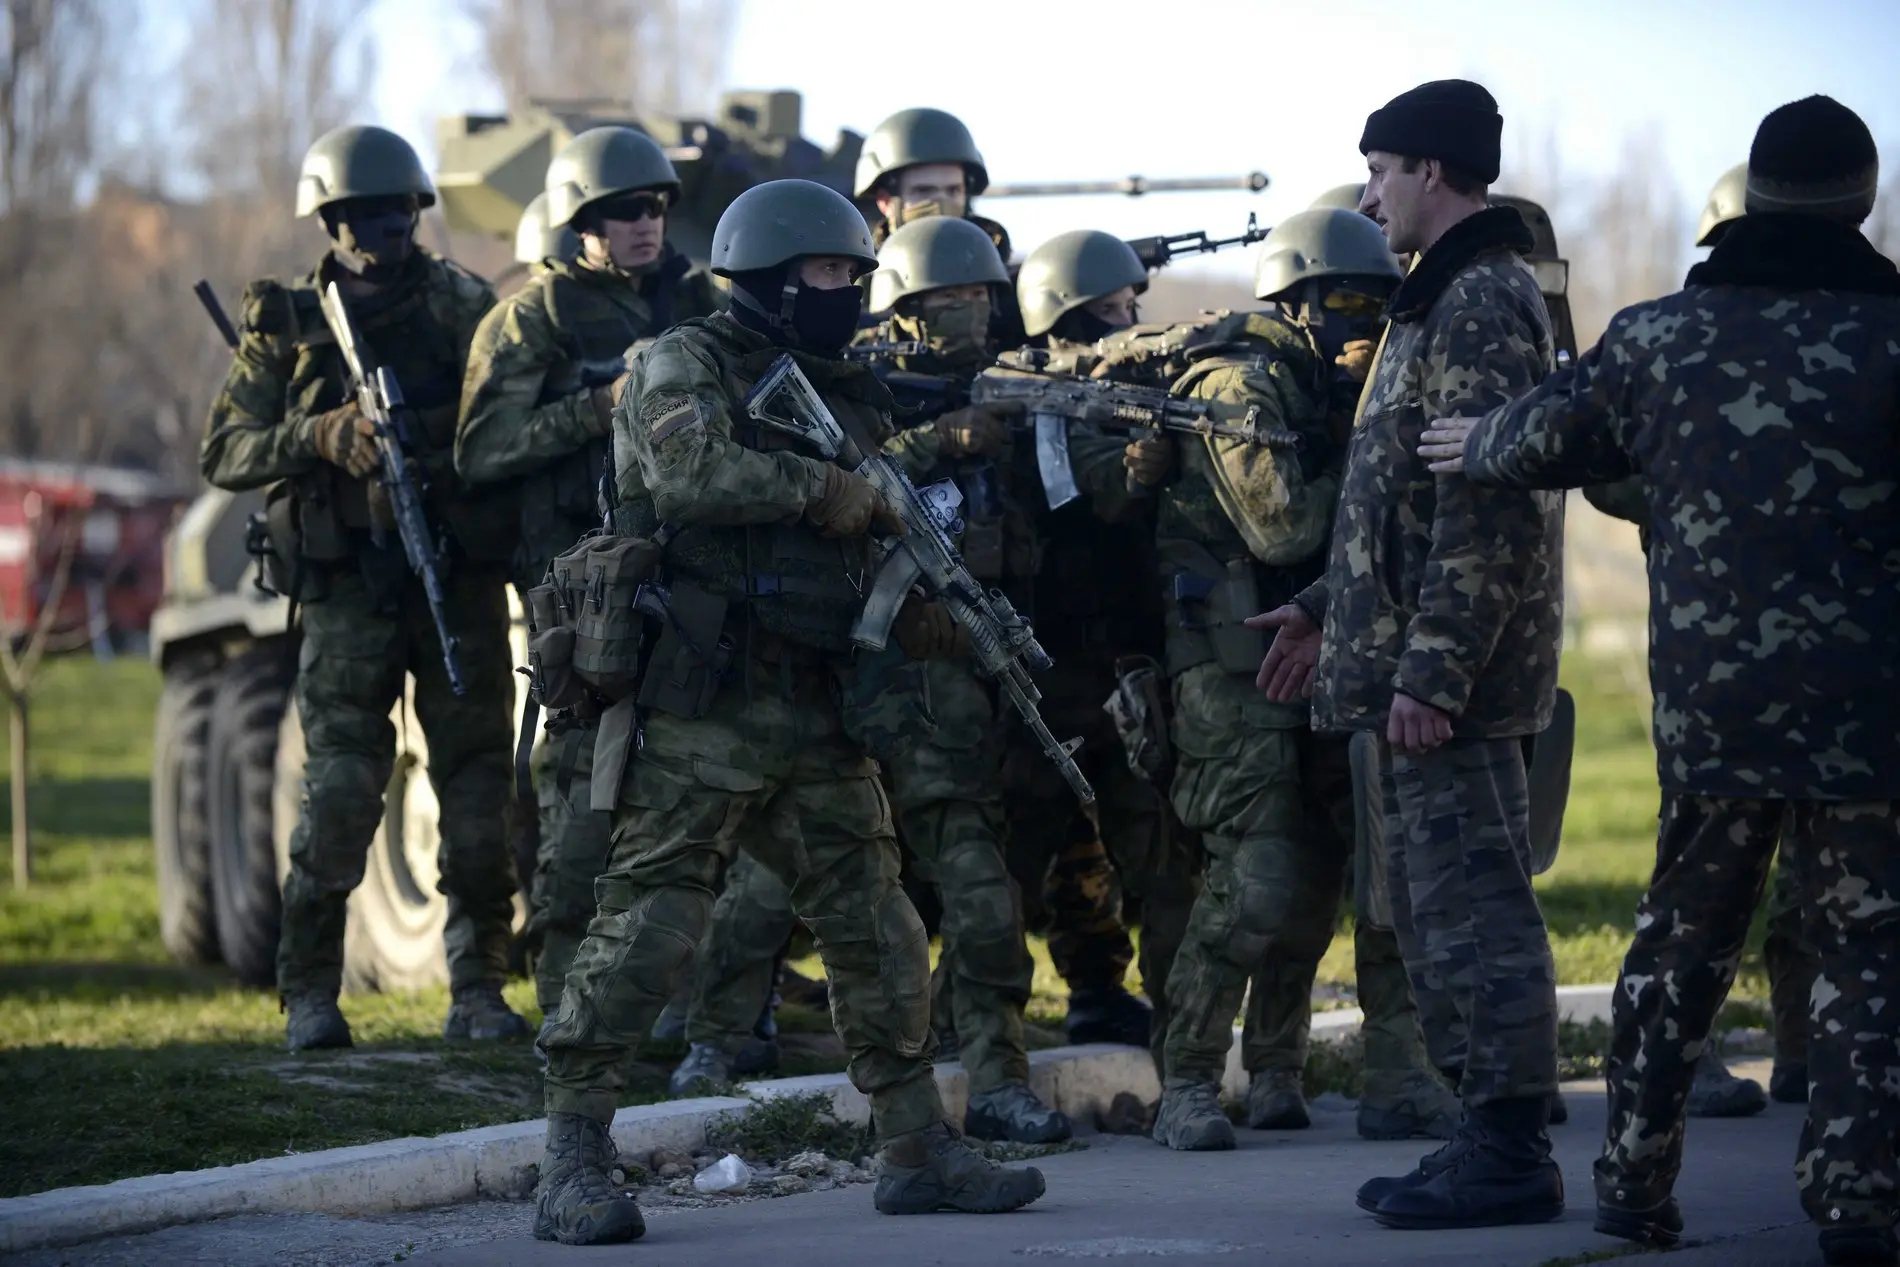
[[1167, 1081], [1220, 1081], [1248, 978], [1281, 1018], [1254, 1054], [1298, 1068], [1351, 857], [1347, 745], [1218, 665], [1184, 671], [1172, 691], [1174, 813], [1201, 832], [1206, 876], [1168, 974]]

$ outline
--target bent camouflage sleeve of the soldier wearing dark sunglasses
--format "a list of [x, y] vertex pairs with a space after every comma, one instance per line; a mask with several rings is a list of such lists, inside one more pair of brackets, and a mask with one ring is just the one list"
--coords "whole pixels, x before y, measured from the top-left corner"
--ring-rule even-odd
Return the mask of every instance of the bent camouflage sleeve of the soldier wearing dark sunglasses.
[[490, 308], [475, 331], [456, 425], [456, 471], [469, 484], [526, 475], [600, 435], [589, 391], [536, 403], [562, 355], [536, 294], [519, 291]]

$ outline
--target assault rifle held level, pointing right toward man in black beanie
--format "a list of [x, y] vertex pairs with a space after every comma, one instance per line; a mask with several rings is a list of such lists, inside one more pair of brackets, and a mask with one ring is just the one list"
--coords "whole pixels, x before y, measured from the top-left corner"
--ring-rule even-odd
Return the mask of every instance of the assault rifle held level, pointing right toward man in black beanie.
[[1214, 401], [1184, 401], [1168, 395], [1165, 388], [1045, 374], [1016, 361], [1003, 361], [977, 374], [969, 403], [1028, 414], [1036, 427], [1036, 469], [1043, 477], [1049, 509], [1060, 509], [1081, 496], [1068, 452], [1072, 422], [1085, 422], [1104, 431], [1182, 431], [1267, 448], [1300, 446], [1298, 433], [1262, 424], [1258, 405], [1248, 405], [1241, 412]]

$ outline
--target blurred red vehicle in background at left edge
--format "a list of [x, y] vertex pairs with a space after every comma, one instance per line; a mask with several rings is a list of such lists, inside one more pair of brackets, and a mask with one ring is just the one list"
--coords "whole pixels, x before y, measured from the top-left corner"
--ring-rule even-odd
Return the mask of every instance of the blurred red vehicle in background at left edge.
[[0, 460], [0, 633], [34, 627], [72, 541], [57, 640], [125, 648], [142, 638], [165, 593], [165, 534], [186, 500], [148, 471]]

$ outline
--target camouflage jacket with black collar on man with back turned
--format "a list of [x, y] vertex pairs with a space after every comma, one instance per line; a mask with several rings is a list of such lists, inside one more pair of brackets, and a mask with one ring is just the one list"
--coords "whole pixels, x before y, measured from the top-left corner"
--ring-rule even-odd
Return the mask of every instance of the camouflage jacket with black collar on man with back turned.
[[1894, 800], [1900, 275], [1814, 220], [1814, 251], [1843, 266], [1803, 285], [1786, 260], [1805, 236], [1750, 224], [1765, 218], [1737, 222], [1748, 232], [1687, 289], [1617, 313], [1575, 369], [1493, 408], [1465, 473], [1512, 488], [1642, 477], [1662, 786]]

